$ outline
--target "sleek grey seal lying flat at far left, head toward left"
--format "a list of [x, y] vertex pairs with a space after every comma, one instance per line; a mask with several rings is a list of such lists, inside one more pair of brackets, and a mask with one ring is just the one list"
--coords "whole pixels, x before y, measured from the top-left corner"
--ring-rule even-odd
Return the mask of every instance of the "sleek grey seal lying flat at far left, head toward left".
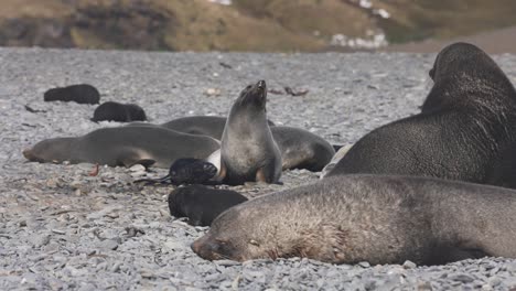
[[110, 166], [169, 168], [176, 159], [205, 159], [219, 148], [217, 140], [158, 127], [103, 128], [78, 138], [55, 138], [23, 151], [30, 161], [99, 163]]

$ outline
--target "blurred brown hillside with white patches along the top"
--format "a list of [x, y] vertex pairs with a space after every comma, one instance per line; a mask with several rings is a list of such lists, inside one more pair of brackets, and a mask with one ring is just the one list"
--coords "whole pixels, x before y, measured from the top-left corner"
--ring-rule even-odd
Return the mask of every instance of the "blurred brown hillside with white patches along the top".
[[426, 52], [466, 37], [516, 51], [515, 15], [514, 0], [0, 0], [0, 45]]

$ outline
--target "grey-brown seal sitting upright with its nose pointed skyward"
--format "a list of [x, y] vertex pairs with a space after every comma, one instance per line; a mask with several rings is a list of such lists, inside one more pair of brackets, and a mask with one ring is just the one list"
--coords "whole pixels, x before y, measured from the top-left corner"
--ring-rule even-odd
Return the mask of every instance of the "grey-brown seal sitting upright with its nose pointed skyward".
[[221, 173], [226, 184], [277, 183], [281, 153], [267, 122], [265, 80], [247, 86], [229, 110], [221, 141]]

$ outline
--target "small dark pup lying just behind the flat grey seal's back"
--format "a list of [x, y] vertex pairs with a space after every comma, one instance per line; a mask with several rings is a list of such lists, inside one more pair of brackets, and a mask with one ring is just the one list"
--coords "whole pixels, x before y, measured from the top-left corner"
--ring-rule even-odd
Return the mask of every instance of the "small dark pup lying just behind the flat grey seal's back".
[[92, 121], [146, 121], [147, 115], [143, 108], [136, 104], [120, 104], [107, 101], [99, 105], [94, 112]]

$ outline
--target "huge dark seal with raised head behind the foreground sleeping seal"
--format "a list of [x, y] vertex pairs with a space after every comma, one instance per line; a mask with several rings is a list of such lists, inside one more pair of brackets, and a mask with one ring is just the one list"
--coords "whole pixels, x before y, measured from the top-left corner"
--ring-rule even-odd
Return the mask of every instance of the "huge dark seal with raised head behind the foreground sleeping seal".
[[443, 48], [430, 76], [434, 85], [421, 114], [363, 137], [327, 176], [402, 174], [504, 184], [490, 177], [503, 150], [516, 141], [516, 90], [508, 78], [466, 43]]

